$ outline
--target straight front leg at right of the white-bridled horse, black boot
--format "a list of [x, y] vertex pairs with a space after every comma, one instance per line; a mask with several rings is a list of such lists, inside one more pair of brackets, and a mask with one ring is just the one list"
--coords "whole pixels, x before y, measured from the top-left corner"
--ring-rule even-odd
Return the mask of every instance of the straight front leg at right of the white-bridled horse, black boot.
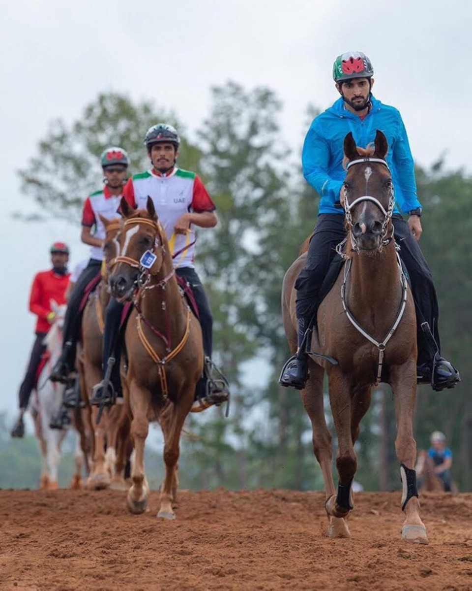
[[391, 368], [391, 386], [394, 391], [396, 439], [395, 452], [400, 462], [402, 479], [402, 511], [405, 521], [402, 538], [409, 542], [428, 544], [426, 528], [419, 517], [419, 499], [415, 461], [417, 444], [413, 437], [413, 413], [416, 397], [416, 361]]

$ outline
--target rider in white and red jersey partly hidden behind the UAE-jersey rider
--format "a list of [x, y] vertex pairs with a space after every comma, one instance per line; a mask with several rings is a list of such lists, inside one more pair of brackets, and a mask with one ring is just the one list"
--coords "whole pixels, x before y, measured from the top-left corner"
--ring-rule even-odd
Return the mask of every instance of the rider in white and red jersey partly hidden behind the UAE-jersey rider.
[[[81, 314], [80, 302], [87, 285], [100, 273], [103, 259], [103, 243], [106, 231], [100, 215], [107, 219], [119, 218], [119, 205], [126, 183], [126, 171], [129, 166], [129, 156], [123, 148], [111, 146], [100, 155], [103, 170], [103, 187], [91, 193], [82, 208], [81, 241], [90, 245], [90, 259], [81, 272], [74, 289], [70, 294], [64, 324], [63, 352], [53, 368], [52, 381], [66, 382], [74, 371], [76, 361], [76, 343], [80, 332]], [[70, 401], [70, 405], [73, 401]], [[58, 425], [60, 427], [60, 425]]]

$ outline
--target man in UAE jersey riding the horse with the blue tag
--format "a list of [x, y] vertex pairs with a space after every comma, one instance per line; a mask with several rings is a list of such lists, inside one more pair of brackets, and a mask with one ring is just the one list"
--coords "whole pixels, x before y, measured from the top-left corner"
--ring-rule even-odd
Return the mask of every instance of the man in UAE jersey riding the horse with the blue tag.
[[[151, 197], [166, 231], [169, 245], [175, 253], [175, 272], [191, 287], [198, 306], [205, 352], [205, 373], [197, 385], [196, 397], [205, 402], [201, 408], [221, 404], [228, 398], [227, 383], [218, 372], [218, 379], [212, 375], [212, 314], [202, 282], [194, 267], [195, 226], [213, 228], [218, 223], [215, 204], [205, 189], [198, 174], [183, 170], [176, 165], [181, 140], [172, 125], [159, 123], [146, 132], [144, 144], [152, 167], [133, 175], [124, 187], [124, 197], [132, 207], [145, 209], [148, 196]], [[103, 335], [103, 359], [119, 359], [118, 329], [122, 304], [110, 298], [105, 316]], [[115, 393], [120, 395], [119, 363], [108, 364], [108, 376], [94, 388], [92, 404], [113, 404]], [[206, 404], [205, 404], [206, 403]]]

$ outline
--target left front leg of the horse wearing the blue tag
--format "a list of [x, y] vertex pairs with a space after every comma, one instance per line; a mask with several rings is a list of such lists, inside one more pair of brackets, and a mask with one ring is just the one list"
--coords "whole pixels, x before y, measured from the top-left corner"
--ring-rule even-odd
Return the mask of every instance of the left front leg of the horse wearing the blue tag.
[[131, 422], [131, 436], [135, 446], [132, 463], [132, 486], [128, 491], [127, 505], [132, 513], [139, 514], [146, 511], [149, 498], [149, 485], [144, 471], [144, 448], [148, 437], [148, 410], [151, 404], [151, 393], [148, 389], [130, 383], [130, 408], [133, 420]]

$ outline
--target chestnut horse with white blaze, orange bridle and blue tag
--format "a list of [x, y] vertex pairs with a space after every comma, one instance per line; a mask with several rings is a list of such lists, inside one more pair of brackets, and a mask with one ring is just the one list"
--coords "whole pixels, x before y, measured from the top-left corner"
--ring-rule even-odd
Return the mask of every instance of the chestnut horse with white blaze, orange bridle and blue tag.
[[124, 199], [121, 207], [120, 256], [110, 275], [110, 287], [117, 300], [132, 299], [135, 304], [124, 334], [128, 362], [123, 386], [135, 445], [127, 504], [133, 513], [146, 509], [149, 485], [143, 456], [149, 419], [159, 420], [165, 409], [166, 419], [160, 423], [166, 474], [158, 517], [173, 519], [179, 440], [203, 369], [202, 333], [179, 291], [168, 241], [152, 200], [148, 198], [147, 209], [136, 212]]

